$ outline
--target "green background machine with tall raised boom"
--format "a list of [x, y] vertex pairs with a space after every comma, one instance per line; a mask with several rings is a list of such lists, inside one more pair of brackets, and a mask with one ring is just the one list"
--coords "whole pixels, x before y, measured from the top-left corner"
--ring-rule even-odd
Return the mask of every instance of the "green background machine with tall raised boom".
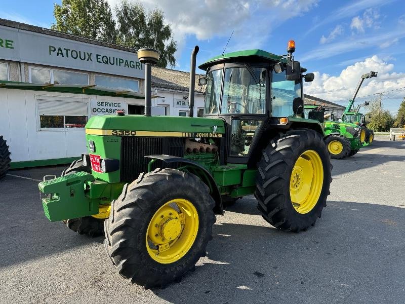
[[343, 112], [342, 122], [355, 124], [361, 128], [360, 130], [360, 140], [363, 142], [363, 145], [369, 145], [373, 143], [374, 140], [374, 132], [367, 128], [365, 115], [359, 112], [362, 106], [369, 105], [369, 102], [365, 102], [363, 104], [357, 105], [357, 107], [352, 111], [352, 106], [354, 104], [354, 99], [360, 89], [363, 81], [368, 78], [377, 77], [377, 72], [371, 71], [370, 73], [366, 73], [361, 75], [361, 78], [357, 84], [356, 89], [354, 90], [353, 97], [349, 100], [345, 111]]

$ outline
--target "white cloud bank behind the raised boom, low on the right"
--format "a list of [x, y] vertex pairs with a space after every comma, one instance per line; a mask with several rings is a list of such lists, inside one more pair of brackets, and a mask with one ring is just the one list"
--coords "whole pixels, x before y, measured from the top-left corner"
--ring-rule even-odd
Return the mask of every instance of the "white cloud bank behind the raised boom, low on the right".
[[[360, 80], [360, 76], [370, 71], [378, 72], [378, 77], [365, 80], [358, 96], [405, 87], [405, 73], [395, 72], [392, 63], [388, 63], [374, 55], [371, 58], [366, 58], [363, 61], [347, 66], [342, 70], [339, 76], [332, 76], [315, 71], [314, 81], [305, 83], [304, 92], [330, 101], [349, 100]], [[397, 95], [396, 98], [398, 98], [398, 96], [399, 95]], [[390, 98], [389, 94], [387, 94], [386, 97]]]

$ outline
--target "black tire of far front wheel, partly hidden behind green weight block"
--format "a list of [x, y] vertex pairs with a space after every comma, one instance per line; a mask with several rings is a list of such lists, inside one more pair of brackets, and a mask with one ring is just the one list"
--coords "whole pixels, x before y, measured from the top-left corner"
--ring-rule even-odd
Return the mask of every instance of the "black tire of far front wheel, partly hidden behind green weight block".
[[[63, 170], [61, 176], [69, 175], [77, 172], [92, 173], [90, 166], [83, 166], [81, 159], [73, 161], [69, 167]], [[84, 216], [78, 218], [70, 218], [63, 220], [66, 226], [77, 232], [79, 235], [88, 235], [90, 237], [98, 237], [104, 234], [104, 219], [95, 218], [93, 216]]]

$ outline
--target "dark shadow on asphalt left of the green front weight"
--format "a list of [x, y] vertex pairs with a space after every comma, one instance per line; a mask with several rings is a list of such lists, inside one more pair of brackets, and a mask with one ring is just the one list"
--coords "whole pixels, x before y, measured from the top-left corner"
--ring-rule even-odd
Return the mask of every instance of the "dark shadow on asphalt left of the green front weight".
[[[35, 170], [38, 169], [10, 174], [30, 178], [42, 174]], [[60, 168], [54, 171], [60, 174]], [[50, 222], [44, 214], [37, 181], [6, 176], [0, 182], [0, 197], [0, 269], [89, 243], [102, 243], [104, 239], [80, 236], [62, 222]]]

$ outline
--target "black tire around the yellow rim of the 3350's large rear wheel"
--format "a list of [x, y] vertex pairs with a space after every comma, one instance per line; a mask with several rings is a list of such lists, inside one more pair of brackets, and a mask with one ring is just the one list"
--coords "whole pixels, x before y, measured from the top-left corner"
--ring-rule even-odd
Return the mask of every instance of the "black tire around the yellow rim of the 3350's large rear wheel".
[[[296, 160], [307, 150], [314, 150], [323, 167], [320, 196], [305, 214], [298, 213], [290, 197], [290, 179]], [[332, 181], [332, 164], [319, 133], [309, 129], [290, 130], [273, 138], [262, 151], [258, 163], [255, 197], [263, 218], [283, 231], [300, 232], [314, 225], [320, 217]]]

